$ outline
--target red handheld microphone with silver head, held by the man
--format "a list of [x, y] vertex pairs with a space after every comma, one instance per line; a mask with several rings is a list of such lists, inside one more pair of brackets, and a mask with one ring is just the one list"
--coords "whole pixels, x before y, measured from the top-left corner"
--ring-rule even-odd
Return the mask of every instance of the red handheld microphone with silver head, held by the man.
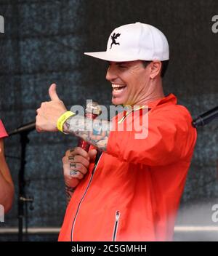
[[[100, 116], [102, 113], [100, 105], [98, 103], [92, 101], [86, 105], [86, 113], [85, 116], [88, 119], [96, 119], [97, 116]], [[84, 151], [88, 152], [90, 144], [87, 143], [85, 140], [82, 140], [81, 138], [78, 139], [77, 146], [80, 148], [83, 148]]]

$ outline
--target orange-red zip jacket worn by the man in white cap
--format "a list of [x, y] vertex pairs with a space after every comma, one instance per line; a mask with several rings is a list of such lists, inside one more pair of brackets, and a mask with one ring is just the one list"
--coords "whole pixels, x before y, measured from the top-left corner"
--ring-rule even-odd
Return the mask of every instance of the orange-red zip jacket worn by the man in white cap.
[[[148, 137], [110, 132], [107, 152], [94, 169], [90, 164], [73, 193], [59, 241], [172, 239], [197, 133], [174, 95], [148, 107]], [[134, 120], [142, 118], [140, 112], [134, 111]], [[120, 119], [118, 114], [113, 125]], [[123, 122], [132, 122], [130, 115]]]

